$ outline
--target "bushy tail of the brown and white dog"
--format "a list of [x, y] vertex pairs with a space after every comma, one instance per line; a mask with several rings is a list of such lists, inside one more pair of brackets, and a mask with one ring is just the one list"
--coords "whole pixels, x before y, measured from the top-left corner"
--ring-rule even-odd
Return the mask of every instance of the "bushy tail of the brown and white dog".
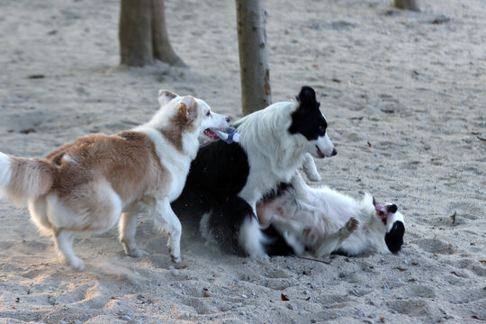
[[12, 157], [0, 152], [0, 197], [25, 206], [49, 191], [54, 166], [39, 158]]

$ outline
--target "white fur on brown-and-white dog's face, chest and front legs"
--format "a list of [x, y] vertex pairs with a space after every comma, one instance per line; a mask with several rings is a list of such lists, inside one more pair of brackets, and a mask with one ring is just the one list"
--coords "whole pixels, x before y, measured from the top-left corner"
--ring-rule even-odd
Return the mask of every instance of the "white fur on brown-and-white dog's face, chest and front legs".
[[[170, 206], [183, 191], [187, 174], [191, 161], [196, 157], [199, 148], [199, 137], [202, 131], [208, 128], [224, 129], [229, 126], [227, 117], [218, 113], [211, 112], [211, 107], [201, 99], [194, 98], [199, 106], [199, 117], [202, 121], [199, 127], [193, 132], [184, 132], [183, 145], [184, 152], [178, 151], [161, 133], [160, 129], [166, 127], [170, 118], [167, 118], [167, 110], [160, 109], [155, 116], [146, 124], [136, 127], [134, 130], [142, 132], [154, 142], [157, 157], [160, 164], [165, 166], [171, 175], [171, 187], [166, 197], [147, 197], [145, 204], [150, 206], [150, 211], [154, 216], [157, 226], [160, 229], [165, 229], [168, 233], [167, 247], [173, 262], [179, 263], [181, 261], [180, 253], [180, 239], [182, 234], [182, 226], [180, 220], [175, 215]], [[178, 104], [184, 101], [184, 98], [160, 90], [158, 93], [158, 102], [161, 105]], [[170, 111], [168, 111], [170, 112]], [[206, 113], [210, 112], [209, 116]], [[139, 207], [130, 204], [124, 209], [121, 223], [120, 223], [120, 240], [125, 253], [132, 257], [140, 257], [145, 254], [144, 251], [137, 247], [135, 242], [135, 231], [137, 226], [137, 218], [135, 213]]]

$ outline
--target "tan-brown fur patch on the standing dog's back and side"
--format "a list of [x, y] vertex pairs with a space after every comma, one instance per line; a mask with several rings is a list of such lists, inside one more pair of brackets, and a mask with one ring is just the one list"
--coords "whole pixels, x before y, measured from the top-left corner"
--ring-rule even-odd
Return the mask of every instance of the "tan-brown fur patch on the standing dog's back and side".
[[[69, 158], [62, 158], [62, 157]], [[171, 179], [152, 140], [137, 131], [115, 135], [88, 135], [68, 143], [46, 157], [56, 164], [51, 190], [59, 197], [86, 199], [85, 186], [106, 179], [123, 202], [138, 201], [144, 195], [163, 197]]]

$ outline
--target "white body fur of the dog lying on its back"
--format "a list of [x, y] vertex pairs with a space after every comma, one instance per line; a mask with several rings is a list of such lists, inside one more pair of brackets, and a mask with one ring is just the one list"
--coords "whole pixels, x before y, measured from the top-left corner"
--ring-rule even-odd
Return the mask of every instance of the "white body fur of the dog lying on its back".
[[[315, 257], [329, 255], [339, 248], [349, 255], [390, 253], [384, 235], [393, 221], [403, 221], [399, 211], [385, 226], [376, 216], [370, 194], [356, 201], [329, 187], [311, 188], [299, 174], [293, 177], [293, 188], [295, 192], [286, 193], [259, 209], [262, 214], [258, 217], [271, 219], [296, 253], [306, 246], [311, 247]], [[352, 219], [359, 221], [355, 230], [348, 228]]]

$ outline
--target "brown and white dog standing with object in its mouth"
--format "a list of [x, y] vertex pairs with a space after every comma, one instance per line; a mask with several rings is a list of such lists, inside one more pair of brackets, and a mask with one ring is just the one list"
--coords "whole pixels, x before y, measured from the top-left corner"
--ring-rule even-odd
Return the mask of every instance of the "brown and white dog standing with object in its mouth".
[[88, 135], [44, 158], [0, 153], [0, 195], [28, 204], [43, 234], [52, 234], [60, 256], [77, 270], [77, 231], [104, 231], [120, 220], [125, 253], [144, 254], [135, 243], [137, 213], [149, 207], [168, 232], [171, 259], [181, 260], [181, 223], [170, 206], [184, 188], [199, 136], [218, 139], [229, 118], [201, 99], [158, 92], [161, 107], [148, 123], [114, 135]]

